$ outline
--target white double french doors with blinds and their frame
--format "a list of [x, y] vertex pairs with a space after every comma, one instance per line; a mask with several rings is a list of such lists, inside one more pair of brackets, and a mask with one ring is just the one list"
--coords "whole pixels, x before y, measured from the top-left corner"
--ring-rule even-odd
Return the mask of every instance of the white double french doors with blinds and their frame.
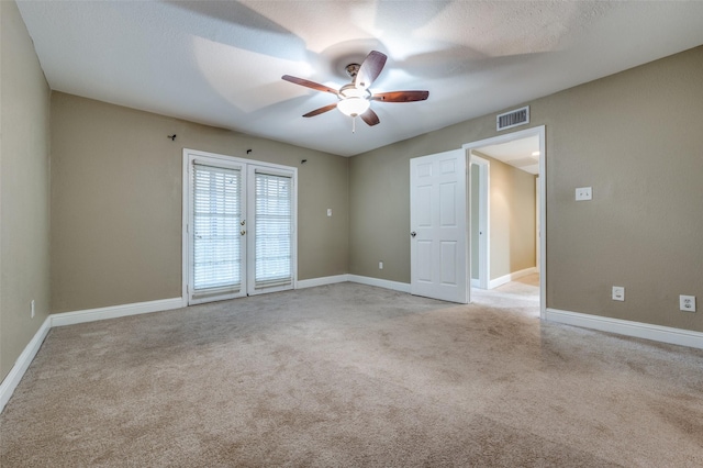
[[183, 151], [189, 304], [292, 289], [297, 169]]

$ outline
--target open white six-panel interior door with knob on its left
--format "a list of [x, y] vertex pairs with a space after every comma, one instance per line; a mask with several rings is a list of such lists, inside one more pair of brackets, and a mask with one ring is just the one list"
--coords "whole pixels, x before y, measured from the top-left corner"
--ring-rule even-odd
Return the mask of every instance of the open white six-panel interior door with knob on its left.
[[464, 149], [410, 160], [410, 291], [469, 302], [467, 168]]

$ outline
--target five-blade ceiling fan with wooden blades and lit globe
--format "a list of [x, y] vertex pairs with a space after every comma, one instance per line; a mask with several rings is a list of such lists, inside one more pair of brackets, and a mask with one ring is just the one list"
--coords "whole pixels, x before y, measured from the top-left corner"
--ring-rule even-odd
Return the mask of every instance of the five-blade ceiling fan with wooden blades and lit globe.
[[353, 119], [353, 125], [356, 121], [356, 116], [360, 116], [368, 125], [376, 125], [380, 120], [371, 109], [371, 101], [413, 102], [424, 101], [429, 96], [429, 91], [390, 91], [371, 93], [371, 91], [369, 91], [369, 87], [383, 70], [387, 58], [388, 57], [384, 54], [378, 51], [371, 51], [361, 65], [347, 65], [345, 70], [349, 78], [352, 78], [352, 82], [344, 85], [339, 90], [303, 78], [292, 77], [290, 75], [283, 75], [281, 78], [286, 81], [312, 88], [317, 91], [330, 92], [338, 98], [338, 102], [308, 112], [303, 115], [304, 118], [320, 115], [337, 108], [343, 114], [349, 115]]

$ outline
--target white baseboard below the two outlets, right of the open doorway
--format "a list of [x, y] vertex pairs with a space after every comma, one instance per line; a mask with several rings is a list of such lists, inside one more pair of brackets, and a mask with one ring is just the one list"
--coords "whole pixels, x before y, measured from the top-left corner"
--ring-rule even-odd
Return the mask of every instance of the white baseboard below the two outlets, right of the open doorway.
[[703, 333], [690, 330], [672, 328], [669, 326], [590, 315], [579, 312], [569, 312], [558, 309], [547, 309], [545, 320], [549, 322], [563, 323], [566, 325], [582, 326], [584, 328], [599, 330], [601, 332], [617, 333], [620, 335], [703, 349]]

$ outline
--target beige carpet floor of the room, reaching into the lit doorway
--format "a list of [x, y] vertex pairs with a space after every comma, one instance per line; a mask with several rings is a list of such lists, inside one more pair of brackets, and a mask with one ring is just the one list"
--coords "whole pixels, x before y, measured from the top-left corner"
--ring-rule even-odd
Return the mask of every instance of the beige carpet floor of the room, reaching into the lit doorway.
[[4, 467], [703, 466], [703, 352], [341, 283], [51, 331]]

